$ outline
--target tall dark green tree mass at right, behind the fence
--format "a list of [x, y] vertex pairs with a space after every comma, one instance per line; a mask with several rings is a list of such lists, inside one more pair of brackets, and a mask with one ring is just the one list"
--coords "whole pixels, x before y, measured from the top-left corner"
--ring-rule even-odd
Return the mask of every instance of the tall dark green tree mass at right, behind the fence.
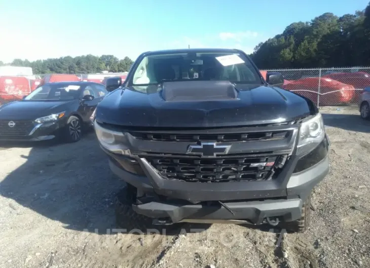
[[368, 66], [370, 3], [355, 14], [324, 13], [311, 22], [294, 22], [259, 43], [251, 57], [261, 69]]

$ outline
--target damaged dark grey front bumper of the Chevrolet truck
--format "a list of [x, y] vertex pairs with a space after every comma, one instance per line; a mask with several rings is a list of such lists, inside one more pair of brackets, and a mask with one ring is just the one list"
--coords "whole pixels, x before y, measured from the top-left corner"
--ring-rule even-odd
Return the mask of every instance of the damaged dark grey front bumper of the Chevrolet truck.
[[328, 173], [328, 146], [325, 137], [305, 156], [292, 155], [273, 180], [228, 183], [168, 180], [145, 158], [130, 159], [102, 149], [109, 156], [112, 171], [138, 189], [133, 209], [139, 214], [166, 219], [169, 224], [227, 219], [258, 225], [269, 218], [293, 221], [301, 217], [302, 205], [312, 188]]

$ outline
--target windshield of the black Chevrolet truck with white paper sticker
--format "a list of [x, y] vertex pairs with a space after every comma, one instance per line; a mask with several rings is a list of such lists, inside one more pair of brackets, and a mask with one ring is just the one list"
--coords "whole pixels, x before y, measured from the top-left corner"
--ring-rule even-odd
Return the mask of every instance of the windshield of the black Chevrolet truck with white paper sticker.
[[173, 53], [144, 57], [134, 72], [132, 85], [166, 81], [227, 80], [262, 84], [251, 62], [239, 53]]

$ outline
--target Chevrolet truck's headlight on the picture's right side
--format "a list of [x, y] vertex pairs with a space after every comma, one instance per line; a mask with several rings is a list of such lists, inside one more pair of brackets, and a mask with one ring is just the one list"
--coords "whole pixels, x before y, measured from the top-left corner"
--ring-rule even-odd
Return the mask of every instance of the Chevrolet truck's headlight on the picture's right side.
[[298, 153], [303, 151], [311, 151], [325, 137], [325, 128], [322, 116], [320, 113], [315, 117], [305, 121], [301, 125], [300, 138], [298, 142]]

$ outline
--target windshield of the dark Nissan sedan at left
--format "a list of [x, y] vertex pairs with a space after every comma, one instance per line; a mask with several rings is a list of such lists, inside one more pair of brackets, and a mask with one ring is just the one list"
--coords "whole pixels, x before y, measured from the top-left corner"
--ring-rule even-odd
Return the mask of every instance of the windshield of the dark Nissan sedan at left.
[[80, 85], [68, 84], [46, 84], [36, 88], [25, 101], [69, 101], [77, 99], [79, 96]]

